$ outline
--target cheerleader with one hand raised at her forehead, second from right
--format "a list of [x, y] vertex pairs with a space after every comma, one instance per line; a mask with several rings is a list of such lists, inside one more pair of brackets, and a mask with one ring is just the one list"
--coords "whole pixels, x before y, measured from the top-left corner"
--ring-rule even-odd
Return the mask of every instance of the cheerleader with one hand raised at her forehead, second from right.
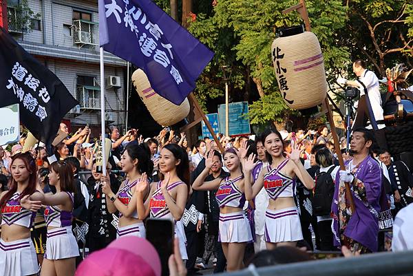
[[205, 160], [205, 169], [193, 182], [193, 189], [201, 191], [218, 189], [215, 193], [220, 206], [218, 241], [221, 242], [226, 257], [226, 270], [233, 271], [242, 268], [246, 243], [251, 242], [253, 237], [249, 222], [242, 211], [245, 203], [244, 176], [241, 160], [235, 148], [226, 149], [224, 164], [229, 169], [229, 177], [204, 182], [213, 166], [213, 151], [209, 151], [208, 158]]

